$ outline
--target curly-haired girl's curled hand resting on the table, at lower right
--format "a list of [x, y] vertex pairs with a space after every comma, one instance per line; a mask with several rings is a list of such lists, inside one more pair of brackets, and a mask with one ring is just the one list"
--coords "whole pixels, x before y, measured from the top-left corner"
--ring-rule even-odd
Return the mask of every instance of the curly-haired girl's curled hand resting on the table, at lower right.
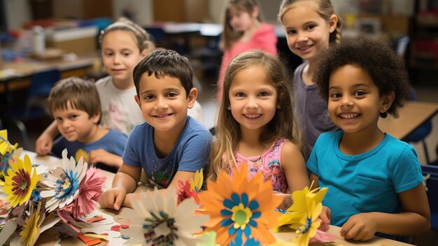
[[367, 213], [355, 214], [350, 217], [341, 228], [341, 236], [346, 239], [366, 241], [373, 237], [377, 225]]

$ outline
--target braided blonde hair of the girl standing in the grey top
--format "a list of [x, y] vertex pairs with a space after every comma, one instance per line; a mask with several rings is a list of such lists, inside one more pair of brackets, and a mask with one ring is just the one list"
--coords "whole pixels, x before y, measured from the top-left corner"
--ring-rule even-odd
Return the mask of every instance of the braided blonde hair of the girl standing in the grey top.
[[[283, 0], [280, 5], [280, 11], [278, 11], [278, 20], [283, 23], [283, 15], [290, 11], [291, 8], [295, 8], [297, 4], [304, 1], [313, 1], [317, 8], [316, 12], [323, 18], [326, 22], [330, 22], [330, 17], [336, 15], [334, 13], [334, 8], [330, 0]], [[329, 36], [329, 43], [339, 43], [341, 42], [341, 18], [338, 16], [338, 22], [336, 29]]]

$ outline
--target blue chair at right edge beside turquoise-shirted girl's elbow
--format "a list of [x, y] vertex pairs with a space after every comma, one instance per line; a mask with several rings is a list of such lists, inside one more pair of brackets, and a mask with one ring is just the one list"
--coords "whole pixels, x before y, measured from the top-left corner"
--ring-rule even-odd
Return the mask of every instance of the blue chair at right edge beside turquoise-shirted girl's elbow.
[[438, 231], [438, 167], [436, 165], [421, 165], [421, 170], [425, 176], [431, 228]]

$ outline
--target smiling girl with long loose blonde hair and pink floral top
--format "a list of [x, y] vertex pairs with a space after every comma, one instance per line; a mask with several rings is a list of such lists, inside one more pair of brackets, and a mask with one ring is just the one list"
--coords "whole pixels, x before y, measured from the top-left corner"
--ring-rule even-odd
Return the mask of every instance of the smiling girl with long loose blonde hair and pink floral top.
[[281, 62], [260, 50], [229, 62], [224, 77], [209, 178], [248, 165], [249, 177], [262, 172], [278, 193], [309, 186], [299, 130]]

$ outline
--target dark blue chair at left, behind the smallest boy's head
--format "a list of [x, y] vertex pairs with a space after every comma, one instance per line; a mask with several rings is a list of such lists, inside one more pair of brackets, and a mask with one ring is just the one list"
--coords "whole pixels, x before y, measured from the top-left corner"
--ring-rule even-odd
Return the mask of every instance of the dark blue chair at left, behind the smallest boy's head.
[[24, 149], [31, 149], [29, 135], [24, 121], [50, 116], [47, 97], [54, 83], [59, 81], [61, 73], [58, 69], [38, 71], [31, 75], [30, 86], [24, 102], [24, 107], [8, 109], [3, 121], [13, 123], [21, 132]]

